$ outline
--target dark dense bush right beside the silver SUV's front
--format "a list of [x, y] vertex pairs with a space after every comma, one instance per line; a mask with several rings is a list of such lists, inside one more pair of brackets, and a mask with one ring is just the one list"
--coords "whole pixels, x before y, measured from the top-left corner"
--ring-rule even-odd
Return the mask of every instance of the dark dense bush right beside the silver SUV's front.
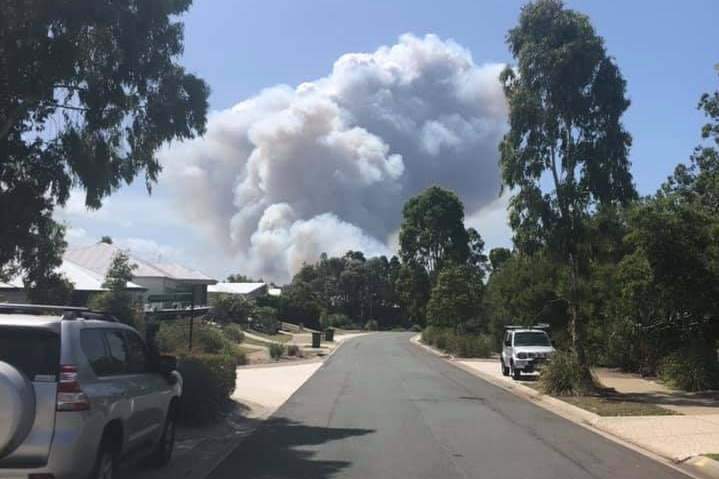
[[183, 387], [178, 419], [207, 424], [217, 419], [235, 390], [237, 363], [227, 354], [191, 354], [179, 358]]

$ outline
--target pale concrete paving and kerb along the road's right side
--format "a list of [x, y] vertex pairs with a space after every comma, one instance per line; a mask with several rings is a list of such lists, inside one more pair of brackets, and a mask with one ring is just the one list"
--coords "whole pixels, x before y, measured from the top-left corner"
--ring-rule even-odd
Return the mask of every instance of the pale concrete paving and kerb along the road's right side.
[[699, 478], [719, 479], [719, 462], [704, 454], [719, 453], [719, 394], [682, 393], [666, 386], [609, 369], [594, 370], [599, 382], [614, 388], [622, 399], [669, 410], [668, 415], [600, 416], [531, 387], [536, 375], [515, 381], [502, 376], [498, 359], [455, 359], [419, 341], [412, 342], [440, 355], [457, 367], [548, 409], [570, 421], [589, 427], [655, 459], [679, 466]]

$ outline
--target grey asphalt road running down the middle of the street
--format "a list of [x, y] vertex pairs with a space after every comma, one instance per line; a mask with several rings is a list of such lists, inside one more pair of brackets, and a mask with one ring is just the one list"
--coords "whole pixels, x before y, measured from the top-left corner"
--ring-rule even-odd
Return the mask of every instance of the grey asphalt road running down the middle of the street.
[[410, 337], [344, 344], [211, 479], [686, 479]]

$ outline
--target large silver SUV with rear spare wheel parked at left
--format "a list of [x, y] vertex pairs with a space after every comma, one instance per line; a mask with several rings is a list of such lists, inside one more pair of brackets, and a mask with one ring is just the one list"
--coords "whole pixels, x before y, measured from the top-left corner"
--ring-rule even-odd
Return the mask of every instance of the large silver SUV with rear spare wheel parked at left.
[[0, 478], [109, 479], [121, 458], [167, 464], [176, 363], [111, 316], [0, 303]]

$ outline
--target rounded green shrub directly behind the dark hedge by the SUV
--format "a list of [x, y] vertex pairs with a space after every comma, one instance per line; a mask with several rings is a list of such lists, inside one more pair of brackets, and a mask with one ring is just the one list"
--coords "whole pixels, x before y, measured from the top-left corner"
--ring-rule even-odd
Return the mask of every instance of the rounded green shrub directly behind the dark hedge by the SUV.
[[[160, 352], [176, 353], [187, 351], [190, 338], [189, 320], [166, 322], [160, 325], [155, 336], [155, 344]], [[217, 354], [226, 350], [232, 343], [218, 328], [195, 320], [192, 328], [192, 347], [199, 352]]]

